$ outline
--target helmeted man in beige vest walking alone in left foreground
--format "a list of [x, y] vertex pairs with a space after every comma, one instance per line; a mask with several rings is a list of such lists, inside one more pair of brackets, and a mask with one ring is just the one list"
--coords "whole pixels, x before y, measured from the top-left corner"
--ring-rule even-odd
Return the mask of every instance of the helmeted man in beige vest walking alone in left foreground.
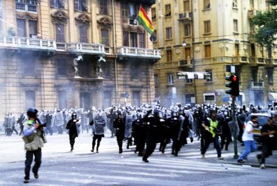
[[33, 174], [37, 179], [39, 178], [39, 167], [42, 163], [42, 147], [44, 147], [45, 136], [44, 127], [39, 123], [37, 118], [37, 109], [30, 108], [27, 111], [28, 120], [23, 129], [23, 140], [25, 142], [26, 161], [25, 161], [25, 177], [24, 183], [28, 183], [30, 180], [30, 166], [33, 162], [33, 156], [35, 156], [35, 165], [33, 166]]

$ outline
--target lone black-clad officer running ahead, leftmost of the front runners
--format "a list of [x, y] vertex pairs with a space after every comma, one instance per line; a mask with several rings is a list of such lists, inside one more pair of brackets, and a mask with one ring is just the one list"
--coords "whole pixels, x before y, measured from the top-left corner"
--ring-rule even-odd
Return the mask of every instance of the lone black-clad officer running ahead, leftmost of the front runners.
[[70, 151], [73, 151], [75, 138], [78, 137], [77, 127], [80, 127], [80, 120], [77, 120], [77, 113], [72, 113], [71, 120], [69, 120], [66, 124], [66, 129], [69, 129], [69, 141], [71, 146]]

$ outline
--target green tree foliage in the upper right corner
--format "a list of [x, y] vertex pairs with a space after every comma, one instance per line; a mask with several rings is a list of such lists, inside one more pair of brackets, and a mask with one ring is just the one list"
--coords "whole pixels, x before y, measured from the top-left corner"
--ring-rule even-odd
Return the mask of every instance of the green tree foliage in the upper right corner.
[[274, 7], [277, 5], [277, 0], [271, 0], [269, 3], [272, 6], [271, 10], [257, 12], [252, 19], [252, 23], [258, 26], [253, 37], [258, 44], [267, 46], [267, 48], [274, 46], [274, 41], [277, 39], [274, 37], [277, 34], [277, 10]]

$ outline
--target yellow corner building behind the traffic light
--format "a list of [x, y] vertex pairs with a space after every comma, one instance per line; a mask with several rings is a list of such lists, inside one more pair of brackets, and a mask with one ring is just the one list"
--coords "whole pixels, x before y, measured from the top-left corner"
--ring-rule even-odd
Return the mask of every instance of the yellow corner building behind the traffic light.
[[[162, 59], [155, 64], [156, 99], [167, 106], [228, 104], [226, 65], [240, 78], [238, 104], [277, 100], [276, 48], [262, 48], [251, 19], [269, 8], [265, 0], [160, 0], [152, 21]], [[178, 80], [177, 72], [208, 72], [211, 80]]]

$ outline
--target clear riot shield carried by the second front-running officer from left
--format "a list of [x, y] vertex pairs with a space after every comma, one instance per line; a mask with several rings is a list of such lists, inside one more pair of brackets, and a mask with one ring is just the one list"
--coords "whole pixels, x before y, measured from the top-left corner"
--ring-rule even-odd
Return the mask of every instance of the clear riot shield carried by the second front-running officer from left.
[[93, 113], [93, 131], [97, 135], [104, 134], [106, 127], [106, 115], [105, 112]]

